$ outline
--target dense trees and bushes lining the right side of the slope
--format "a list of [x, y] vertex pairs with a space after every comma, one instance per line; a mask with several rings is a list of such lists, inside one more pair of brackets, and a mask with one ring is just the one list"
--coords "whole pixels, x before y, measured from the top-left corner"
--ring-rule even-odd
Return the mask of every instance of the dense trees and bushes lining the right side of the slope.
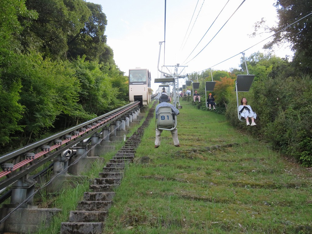
[[[294, 51], [292, 61], [288, 57], [279, 58], [272, 54], [253, 53], [246, 58], [249, 74], [255, 75], [251, 90], [239, 93], [239, 101], [246, 97], [248, 104], [257, 113], [256, 127], [246, 126], [245, 121], [238, 120], [237, 100], [234, 86], [224, 89], [225, 80], [233, 79], [238, 74], [246, 74], [246, 66], [241, 61], [241, 69], [232, 69], [228, 76], [214, 77], [217, 82], [213, 91], [218, 111], [226, 114], [233, 126], [245, 129], [250, 134], [260, 137], [272, 144], [281, 153], [294, 157], [304, 166], [312, 165], [312, 131], [311, 97], [312, 97], [312, 33], [311, 2], [307, 0], [276, 0], [275, 7], [279, 17], [277, 26], [263, 26], [265, 21], [256, 23], [256, 32], [267, 29], [275, 32], [272, 40], [264, 48], [273, 48], [288, 42]], [[255, 32], [255, 33], [256, 33]], [[220, 73], [220, 72], [219, 72]], [[233, 77], [234, 75], [234, 77]], [[211, 81], [211, 75], [192, 74], [193, 80]], [[201, 94], [205, 93], [204, 85], [200, 86]], [[197, 105], [205, 109], [204, 104]]]

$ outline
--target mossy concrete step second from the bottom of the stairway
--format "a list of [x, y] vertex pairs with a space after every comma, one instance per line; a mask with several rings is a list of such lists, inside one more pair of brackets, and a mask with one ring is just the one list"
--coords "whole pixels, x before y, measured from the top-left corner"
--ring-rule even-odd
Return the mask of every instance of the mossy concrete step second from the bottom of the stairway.
[[69, 222], [104, 222], [107, 211], [71, 211]]

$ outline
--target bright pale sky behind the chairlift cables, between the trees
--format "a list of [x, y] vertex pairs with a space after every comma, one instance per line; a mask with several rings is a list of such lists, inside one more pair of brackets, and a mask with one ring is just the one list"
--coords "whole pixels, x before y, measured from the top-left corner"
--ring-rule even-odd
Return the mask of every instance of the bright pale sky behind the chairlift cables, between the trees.
[[[154, 78], [161, 77], [158, 57], [159, 69], [167, 73], [173, 73], [176, 64], [180, 64], [178, 73], [187, 66], [181, 75], [209, 68], [239, 69], [240, 52], [246, 57], [257, 51], [268, 52], [262, 47], [270, 39], [261, 41], [272, 33], [250, 37], [254, 24], [261, 18], [270, 27], [278, 22], [275, 0], [167, 0], [166, 21], [164, 0], [86, 1], [102, 6], [107, 18], [107, 44], [119, 69], [125, 76], [132, 68], [149, 69], [154, 91], [159, 86]], [[160, 41], [165, 41], [161, 51]], [[293, 55], [285, 44], [271, 52], [282, 58]], [[179, 86], [182, 84], [184, 79], [179, 79]]]

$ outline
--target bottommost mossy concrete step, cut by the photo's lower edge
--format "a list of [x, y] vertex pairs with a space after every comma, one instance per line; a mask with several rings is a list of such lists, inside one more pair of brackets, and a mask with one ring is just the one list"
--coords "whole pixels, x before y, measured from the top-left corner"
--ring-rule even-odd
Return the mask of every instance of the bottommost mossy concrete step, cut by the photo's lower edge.
[[62, 222], [61, 234], [102, 234], [102, 222]]

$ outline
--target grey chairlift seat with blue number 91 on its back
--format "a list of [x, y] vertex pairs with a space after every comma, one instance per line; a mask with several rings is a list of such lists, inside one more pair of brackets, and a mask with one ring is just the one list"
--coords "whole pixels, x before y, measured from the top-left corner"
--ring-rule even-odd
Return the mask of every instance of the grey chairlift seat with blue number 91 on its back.
[[177, 116], [172, 112], [171, 107], [159, 107], [158, 114], [156, 114], [156, 128], [158, 130], [171, 131], [177, 127]]

